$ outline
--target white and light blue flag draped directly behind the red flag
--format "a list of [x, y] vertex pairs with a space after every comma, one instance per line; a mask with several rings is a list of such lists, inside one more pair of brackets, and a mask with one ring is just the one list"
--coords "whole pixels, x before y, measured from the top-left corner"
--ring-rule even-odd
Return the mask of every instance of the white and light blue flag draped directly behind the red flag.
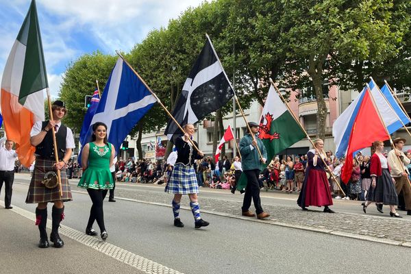
[[[371, 95], [375, 100], [377, 110], [382, 116], [384, 124], [386, 125], [388, 132], [392, 134], [397, 129], [410, 123], [410, 120], [405, 116], [397, 112], [395, 106], [389, 103], [389, 100], [379, 90], [378, 86], [373, 80], [369, 82]], [[353, 123], [358, 115], [360, 104], [364, 99], [366, 88], [360, 92], [360, 95], [349, 105], [349, 107], [336, 119], [332, 126], [332, 135], [334, 136], [334, 143], [336, 145], [336, 157], [341, 158], [347, 153], [349, 136], [351, 134]], [[400, 118], [402, 117], [402, 118]]]

